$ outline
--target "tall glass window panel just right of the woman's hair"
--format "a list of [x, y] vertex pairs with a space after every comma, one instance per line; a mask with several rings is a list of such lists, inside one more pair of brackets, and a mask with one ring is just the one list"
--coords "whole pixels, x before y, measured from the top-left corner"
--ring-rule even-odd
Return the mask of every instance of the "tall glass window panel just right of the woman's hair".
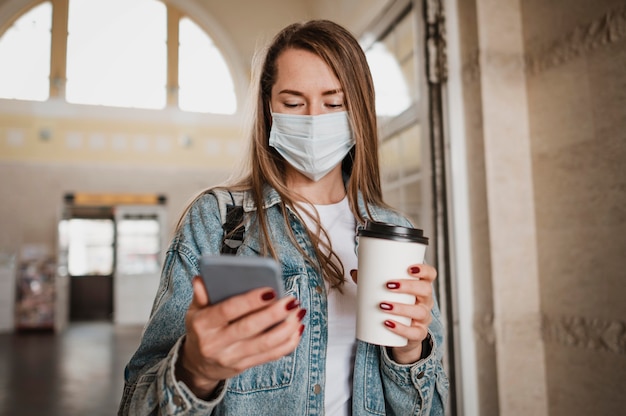
[[418, 55], [417, 15], [408, 7], [393, 14], [389, 25], [376, 26], [362, 40], [376, 88], [376, 112], [381, 127], [381, 181], [385, 200], [424, 223], [429, 201], [423, 136], [427, 118], [419, 100], [424, 99], [419, 82], [422, 58]]

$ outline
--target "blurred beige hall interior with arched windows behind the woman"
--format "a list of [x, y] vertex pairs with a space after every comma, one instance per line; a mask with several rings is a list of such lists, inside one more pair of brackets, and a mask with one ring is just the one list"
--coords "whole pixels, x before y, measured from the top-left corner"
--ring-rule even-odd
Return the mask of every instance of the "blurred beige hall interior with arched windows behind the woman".
[[115, 413], [255, 51], [313, 18], [361, 41], [431, 238], [448, 414], [623, 414], [623, 0], [0, 0], [0, 414]]

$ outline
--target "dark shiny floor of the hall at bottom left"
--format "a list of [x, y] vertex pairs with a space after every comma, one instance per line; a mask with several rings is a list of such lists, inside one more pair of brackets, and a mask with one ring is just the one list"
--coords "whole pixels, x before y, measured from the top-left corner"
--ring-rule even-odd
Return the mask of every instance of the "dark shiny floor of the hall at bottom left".
[[111, 416], [141, 327], [74, 323], [0, 334], [0, 416]]

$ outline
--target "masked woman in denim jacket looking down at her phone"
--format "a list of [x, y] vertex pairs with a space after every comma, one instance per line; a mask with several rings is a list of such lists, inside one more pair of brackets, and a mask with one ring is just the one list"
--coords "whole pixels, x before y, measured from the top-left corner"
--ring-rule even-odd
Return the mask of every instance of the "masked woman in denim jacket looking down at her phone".
[[[432, 267], [411, 265], [411, 278], [387, 284], [414, 305], [380, 305], [411, 318], [385, 322], [407, 346], [355, 340], [355, 230], [366, 219], [410, 225], [382, 200], [374, 89], [358, 42], [329, 21], [291, 25], [255, 85], [249, 172], [183, 215], [120, 414], [443, 414]], [[277, 259], [287, 296], [264, 288], [210, 304], [199, 259], [220, 252], [233, 202], [244, 211], [237, 255]]]

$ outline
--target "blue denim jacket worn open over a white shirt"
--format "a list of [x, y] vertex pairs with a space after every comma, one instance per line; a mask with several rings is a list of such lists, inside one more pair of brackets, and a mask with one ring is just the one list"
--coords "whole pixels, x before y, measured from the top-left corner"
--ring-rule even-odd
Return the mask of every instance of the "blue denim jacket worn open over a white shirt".
[[[245, 239], [237, 255], [259, 255], [255, 230], [256, 207], [248, 193], [233, 193], [243, 202]], [[180, 231], [166, 255], [150, 320], [139, 348], [126, 366], [120, 415], [323, 415], [327, 343], [326, 288], [322, 276], [298, 252], [278, 193], [264, 194], [269, 231], [277, 244], [287, 294], [298, 298], [308, 310], [305, 331], [296, 350], [273, 362], [250, 368], [218, 387], [211, 401], [203, 401], [174, 376], [181, 341], [185, 336], [185, 313], [192, 297], [191, 279], [199, 274], [203, 254], [219, 253], [229, 192], [212, 191], [201, 196], [186, 214]], [[399, 225], [408, 220], [388, 209], [370, 207], [359, 198], [366, 218]], [[312, 257], [304, 224], [288, 213], [288, 224], [297, 244]], [[356, 245], [356, 239], [355, 239]], [[429, 327], [430, 354], [418, 362], [402, 365], [384, 347], [357, 341], [354, 363], [352, 414], [443, 415], [448, 379], [442, 367], [443, 326], [437, 305]]]

